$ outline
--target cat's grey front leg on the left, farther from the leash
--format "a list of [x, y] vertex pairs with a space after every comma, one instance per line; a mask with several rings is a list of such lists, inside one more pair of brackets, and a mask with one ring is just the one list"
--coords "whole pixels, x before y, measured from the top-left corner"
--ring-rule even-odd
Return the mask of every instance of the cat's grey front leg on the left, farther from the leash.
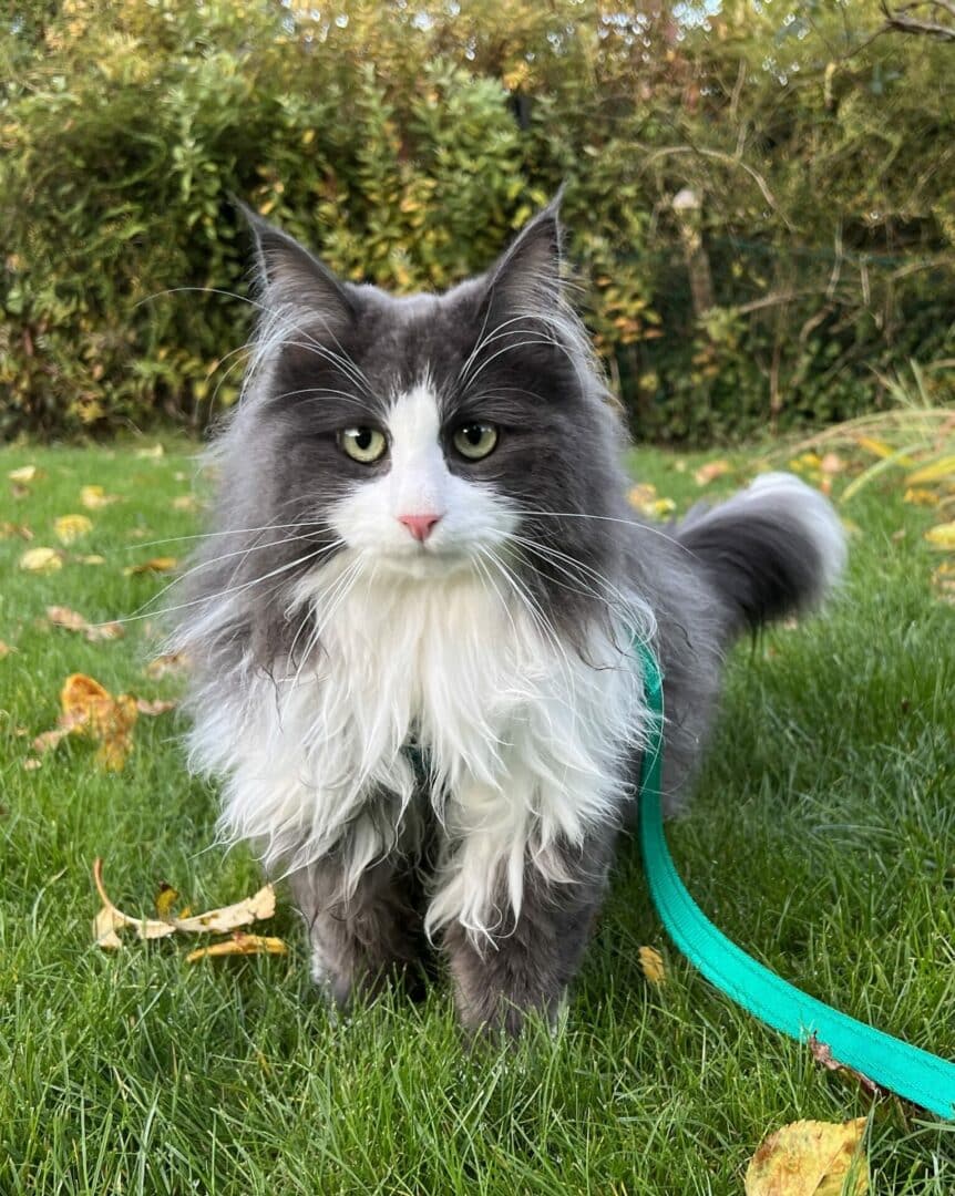
[[389, 980], [415, 988], [422, 976], [421, 890], [403, 859], [384, 859], [346, 885], [335, 855], [291, 877], [311, 941], [311, 972], [335, 1005], [373, 995]]

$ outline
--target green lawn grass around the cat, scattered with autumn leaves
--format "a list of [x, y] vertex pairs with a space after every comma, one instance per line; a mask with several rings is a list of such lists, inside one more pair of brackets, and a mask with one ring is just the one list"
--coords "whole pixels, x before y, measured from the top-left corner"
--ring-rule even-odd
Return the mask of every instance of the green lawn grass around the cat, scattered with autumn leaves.
[[[53, 519], [83, 509], [80, 486], [123, 500], [90, 512], [71, 550], [103, 565], [30, 574], [16, 568], [28, 545], [0, 542], [0, 640], [16, 648], [0, 659], [0, 1192], [732, 1194], [771, 1129], [870, 1112], [668, 946], [633, 844], [566, 1021], [513, 1052], [464, 1052], [443, 986], [421, 1006], [389, 996], [331, 1021], [284, 899], [270, 933], [290, 940], [287, 957], [187, 965], [170, 941], [92, 946], [96, 855], [132, 910], [160, 880], [194, 908], [258, 885], [247, 854], [208, 850], [215, 795], [187, 775], [175, 715], [140, 720], [120, 774], [81, 742], [23, 767], [71, 672], [112, 692], [175, 694], [144, 673], [151, 620], [87, 643], [43, 614], [57, 603], [112, 618], [160, 588], [122, 567], [178, 555], [183, 544], [146, 544], [195, 530], [172, 507], [190, 493], [191, 453], [0, 451], [5, 493], [8, 470], [45, 471], [4, 500], [35, 544], [55, 544]], [[640, 465], [681, 507], [698, 493], [671, 457], [643, 452]], [[888, 471], [844, 514], [857, 529], [844, 593], [827, 618], [735, 652], [708, 767], [670, 838], [694, 896], [747, 950], [951, 1057], [955, 618], [921, 539], [937, 517], [905, 505]], [[662, 988], [640, 972], [643, 944], [667, 960]], [[955, 1124], [888, 1100], [866, 1142], [874, 1191], [955, 1191]]]

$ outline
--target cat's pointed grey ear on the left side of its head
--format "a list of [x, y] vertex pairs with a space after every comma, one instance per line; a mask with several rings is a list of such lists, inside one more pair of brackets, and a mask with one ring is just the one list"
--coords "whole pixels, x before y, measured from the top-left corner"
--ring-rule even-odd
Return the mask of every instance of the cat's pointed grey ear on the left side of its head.
[[354, 317], [346, 283], [314, 257], [294, 237], [238, 205], [255, 238], [258, 285], [266, 307], [294, 307], [314, 313], [330, 330]]

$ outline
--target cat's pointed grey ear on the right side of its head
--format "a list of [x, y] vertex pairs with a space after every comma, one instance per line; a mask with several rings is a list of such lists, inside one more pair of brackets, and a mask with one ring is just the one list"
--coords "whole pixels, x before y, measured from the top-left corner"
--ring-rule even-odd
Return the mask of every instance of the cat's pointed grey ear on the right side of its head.
[[528, 221], [488, 275], [486, 303], [492, 313], [551, 315], [560, 306], [564, 188]]

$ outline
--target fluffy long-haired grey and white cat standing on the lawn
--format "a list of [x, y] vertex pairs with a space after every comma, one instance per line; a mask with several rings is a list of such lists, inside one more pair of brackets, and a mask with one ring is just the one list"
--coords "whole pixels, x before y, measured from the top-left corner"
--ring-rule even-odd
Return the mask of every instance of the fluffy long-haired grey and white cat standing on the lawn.
[[561, 285], [556, 206], [480, 277], [393, 298], [253, 218], [261, 319], [185, 579], [193, 758], [223, 837], [288, 875], [337, 1002], [446, 957], [466, 1026], [553, 1014], [634, 803], [664, 673], [673, 805], [720, 660], [811, 605], [845, 544], [771, 474], [676, 526]]

